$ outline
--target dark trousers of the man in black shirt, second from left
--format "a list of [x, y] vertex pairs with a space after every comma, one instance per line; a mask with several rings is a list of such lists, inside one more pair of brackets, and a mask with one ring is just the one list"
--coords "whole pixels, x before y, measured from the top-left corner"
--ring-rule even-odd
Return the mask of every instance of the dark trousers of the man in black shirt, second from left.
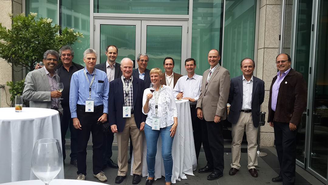
[[60, 120], [60, 129], [61, 129], [61, 137], [62, 137], [62, 150], [63, 150], [63, 159], [66, 159], [66, 151], [65, 151], [65, 135], [67, 129], [70, 128], [71, 132], [71, 161], [76, 159], [76, 151], [77, 151], [77, 141], [76, 141], [76, 129], [73, 126], [73, 121], [71, 118], [71, 111], [69, 106], [63, 106], [63, 116]]

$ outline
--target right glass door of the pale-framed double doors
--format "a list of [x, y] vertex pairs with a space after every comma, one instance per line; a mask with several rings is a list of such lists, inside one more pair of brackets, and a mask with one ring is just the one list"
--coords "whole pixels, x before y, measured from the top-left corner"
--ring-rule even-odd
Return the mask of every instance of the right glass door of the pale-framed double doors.
[[142, 21], [141, 52], [149, 56], [148, 69], [163, 68], [165, 57], [174, 59], [175, 73], [186, 74], [187, 21]]

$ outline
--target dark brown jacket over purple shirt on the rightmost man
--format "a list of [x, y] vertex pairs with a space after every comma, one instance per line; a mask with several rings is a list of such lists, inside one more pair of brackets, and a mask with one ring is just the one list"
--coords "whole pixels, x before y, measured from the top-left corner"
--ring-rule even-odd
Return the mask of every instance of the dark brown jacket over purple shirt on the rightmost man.
[[291, 69], [280, 83], [276, 111], [271, 109], [272, 86], [277, 80], [273, 78], [270, 87], [268, 122], [285, 122], [298, 125], [307, 104], [307, 85], [303, 75]]

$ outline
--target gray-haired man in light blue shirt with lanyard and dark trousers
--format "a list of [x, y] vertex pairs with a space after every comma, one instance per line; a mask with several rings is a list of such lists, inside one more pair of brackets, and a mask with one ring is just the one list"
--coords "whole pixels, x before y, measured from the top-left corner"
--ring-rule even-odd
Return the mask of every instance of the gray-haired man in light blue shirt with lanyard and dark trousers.
[[97, 53], [87, 49], [83, 53], [84, 69], [72, 75], [70, 109], [73, 126], [77, 129], [77, 180], [87, 174], [87, 145], [92, 133], [93, 176], [101, 182], [107, 177], [102, 169], [103, 125], [107, 122], [109, 82], [105, 72], [95, 69]]

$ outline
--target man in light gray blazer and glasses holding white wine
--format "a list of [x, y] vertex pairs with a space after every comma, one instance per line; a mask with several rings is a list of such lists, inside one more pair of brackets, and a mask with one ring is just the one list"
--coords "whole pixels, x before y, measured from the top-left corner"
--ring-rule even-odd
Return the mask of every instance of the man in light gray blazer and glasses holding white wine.
[[58, 98], [62, 93], [57, 91], [59, 76], [55, 72], [59, 55], [54, 50], [43, 54], [44, 67], [31, 71], [25, 78], [23, 98], [30, 101], [30, 107], [51, 108], [63, 114], [63, 108]]

